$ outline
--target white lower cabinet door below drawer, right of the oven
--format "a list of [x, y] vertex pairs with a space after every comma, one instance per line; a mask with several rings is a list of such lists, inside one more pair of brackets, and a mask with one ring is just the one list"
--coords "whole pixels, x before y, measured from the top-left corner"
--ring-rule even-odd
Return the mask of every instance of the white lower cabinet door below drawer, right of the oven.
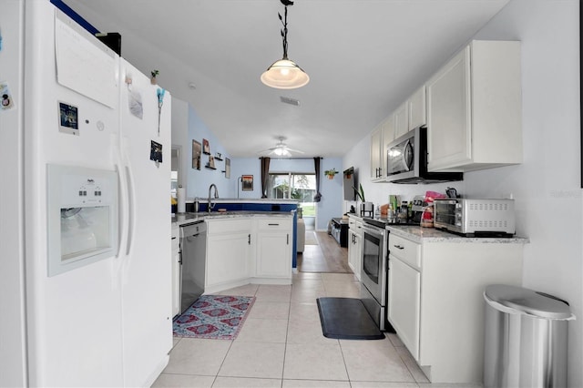
[[419, 360], [421, 272], [389, 257], [388, 318], [415, 360]]

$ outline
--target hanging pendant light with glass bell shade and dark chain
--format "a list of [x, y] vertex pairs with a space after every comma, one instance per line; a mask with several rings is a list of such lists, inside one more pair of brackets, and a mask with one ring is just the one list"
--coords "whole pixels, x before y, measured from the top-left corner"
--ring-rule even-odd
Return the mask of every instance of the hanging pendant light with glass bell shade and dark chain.
[[290, 0], [280, 0], [285, 6], [284, 17], [278, 12], [283, 29], [281, 29], [281, 38], [283, 39], [283, 57], [275, 61], [263, 74], [261, 82], [268, 87], [278, 89], [295, 89], [303, 87], [310, 81], [310, 77], [297, 66], [293, 61], [288, 59], [288, 5], [293, 5]]

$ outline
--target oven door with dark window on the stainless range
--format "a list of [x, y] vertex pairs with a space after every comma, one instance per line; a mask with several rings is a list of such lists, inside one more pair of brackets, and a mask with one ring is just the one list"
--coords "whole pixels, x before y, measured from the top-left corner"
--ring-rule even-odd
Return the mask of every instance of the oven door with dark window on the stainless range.
[[361, 281], [381, 306], [385, 306], [386, 295], [385, 233], [386, 231], [380, 228], [363, 226]]

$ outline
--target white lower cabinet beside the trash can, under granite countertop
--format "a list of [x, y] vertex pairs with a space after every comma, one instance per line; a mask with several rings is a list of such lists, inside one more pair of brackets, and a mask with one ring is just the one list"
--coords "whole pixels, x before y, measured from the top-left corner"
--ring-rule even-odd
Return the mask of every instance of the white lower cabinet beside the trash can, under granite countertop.
[[431, 383], [482, 383], [483, 292], [521, 285], [526, 241], [417, 242], [389, 230], [388, 321]]

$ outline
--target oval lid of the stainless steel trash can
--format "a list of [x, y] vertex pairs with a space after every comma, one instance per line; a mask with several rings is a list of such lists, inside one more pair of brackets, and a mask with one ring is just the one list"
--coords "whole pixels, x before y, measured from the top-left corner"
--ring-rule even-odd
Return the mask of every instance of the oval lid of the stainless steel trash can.
[[540, 318], [566, 320], [573, 317], [566, 301], [522, 287], [492, 284], [486, 287], [484, 296], [517, 312]]

